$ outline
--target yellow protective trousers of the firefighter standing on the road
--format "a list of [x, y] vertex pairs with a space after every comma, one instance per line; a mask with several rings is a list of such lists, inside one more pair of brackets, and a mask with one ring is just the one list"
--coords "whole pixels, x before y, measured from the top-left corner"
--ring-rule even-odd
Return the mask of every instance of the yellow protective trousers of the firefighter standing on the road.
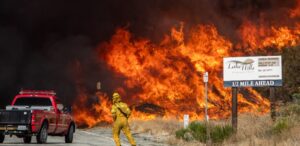
[[123, 133], [125, 134], [125, 136], [127, 137], [129, 143], [132, 146], [136, 146], [135, 141], [130, 133], [130, 129], [129, 129], [129, 124], [128, 124], [128, 120], [126, 117], [117, 117], [116, 121], [114, 122], [113, 125], [113, 137], [114, 137], [114, 141], [116, 143], [116, 146], [121, 146], [120, 143], [120, 131], [123, 131]]

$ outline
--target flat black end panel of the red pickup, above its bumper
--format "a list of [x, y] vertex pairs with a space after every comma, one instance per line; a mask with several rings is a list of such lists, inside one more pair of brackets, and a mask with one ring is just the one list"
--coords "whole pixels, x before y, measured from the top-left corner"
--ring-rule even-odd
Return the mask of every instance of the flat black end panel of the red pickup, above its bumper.
[[0, 124], [30, 124], [30, 110], [0, 110]]

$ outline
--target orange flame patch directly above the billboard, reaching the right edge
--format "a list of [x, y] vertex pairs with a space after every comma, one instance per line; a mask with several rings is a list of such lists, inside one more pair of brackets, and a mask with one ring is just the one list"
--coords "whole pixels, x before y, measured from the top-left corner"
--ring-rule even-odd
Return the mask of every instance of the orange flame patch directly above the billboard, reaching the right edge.
[[279, 51], [284, 47], [295, 46], [300, 42], [299, 24], [296, 25], [295, 29], [289, 29], [287, 26], [257, 26], [245, 21], [239, 33], [242, 38], [242, 44], [239, 44], [239, 48], [246, 48], [250, 54], [255, 54], [257, 49], [265, 52], [266, 50], [263, 49], [267, 47], [273, 47], [273, 50]]

